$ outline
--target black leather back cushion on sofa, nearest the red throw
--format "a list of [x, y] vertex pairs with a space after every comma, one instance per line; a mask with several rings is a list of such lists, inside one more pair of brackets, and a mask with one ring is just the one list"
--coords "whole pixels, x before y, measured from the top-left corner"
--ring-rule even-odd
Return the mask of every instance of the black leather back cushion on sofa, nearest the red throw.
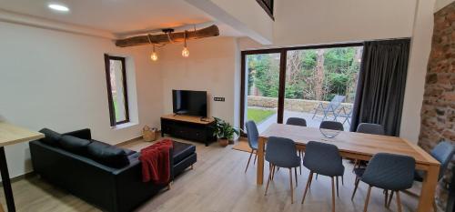
[[124, 149], [103, 142], [93, 141], [87, 146], [87, 153], [96, 162], [107, 167], [126, 167], [129, 165], [128, 155]]

